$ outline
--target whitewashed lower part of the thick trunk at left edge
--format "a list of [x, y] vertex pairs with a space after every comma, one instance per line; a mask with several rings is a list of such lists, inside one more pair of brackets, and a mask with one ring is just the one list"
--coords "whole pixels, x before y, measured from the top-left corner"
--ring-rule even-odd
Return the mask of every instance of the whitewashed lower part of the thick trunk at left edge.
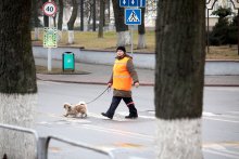
[[[0, 123], [34, 128], [37, 94], [0, 93]], [[36, 147], [33, 134], [0, 129], [0, 158], [36, 159]]]

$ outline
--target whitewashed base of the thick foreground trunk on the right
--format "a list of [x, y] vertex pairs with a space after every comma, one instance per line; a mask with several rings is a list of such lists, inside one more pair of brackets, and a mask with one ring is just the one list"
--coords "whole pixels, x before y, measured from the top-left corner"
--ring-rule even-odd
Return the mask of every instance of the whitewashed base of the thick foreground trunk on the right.
[[156, 159], [203, 159], [201, 119], [156, 119]]

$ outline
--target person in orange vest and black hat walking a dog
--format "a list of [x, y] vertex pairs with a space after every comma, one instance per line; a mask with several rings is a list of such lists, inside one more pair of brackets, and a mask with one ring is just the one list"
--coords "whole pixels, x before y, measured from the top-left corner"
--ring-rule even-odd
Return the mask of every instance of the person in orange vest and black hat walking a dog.
[[108, 111], [101, 115], [113, 119], [114, 112], [123, 100], [129, 109], [129, 115], [125, 118], [136, 119], [138, 118], [138, 112], [131, 98], [131, 84], [134, 83], [138, 88], [139, 80], [133, 64], [133, 57], [126, 54], [124, 47], [118, 47], [115, 58], [113, 74], [108, 82], [109, 88], [113, 87], [112, 103]]

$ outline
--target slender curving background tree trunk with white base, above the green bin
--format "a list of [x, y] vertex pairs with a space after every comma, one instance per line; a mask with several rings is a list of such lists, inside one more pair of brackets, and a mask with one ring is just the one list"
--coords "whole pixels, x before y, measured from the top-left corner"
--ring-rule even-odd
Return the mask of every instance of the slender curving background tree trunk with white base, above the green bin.
[[68, 26], [68, 43], [72, 44], [74, 43], [74, 24], [77, 17], [77, 11], [78, 11], [78, 5], [76, 0], [72, 0], [72, 5], [73, 5], [73, 11], [72, 15], [70, 17], [70, 21], [67, 23]]

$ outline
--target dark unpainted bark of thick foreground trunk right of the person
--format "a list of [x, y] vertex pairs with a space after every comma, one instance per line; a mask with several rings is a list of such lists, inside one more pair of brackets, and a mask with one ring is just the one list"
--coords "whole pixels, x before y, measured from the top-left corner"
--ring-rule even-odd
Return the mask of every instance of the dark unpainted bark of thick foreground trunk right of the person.
[[205, 59], [205, 1], [158, 4], [155, 109], [162, 119], [200, 118]]

